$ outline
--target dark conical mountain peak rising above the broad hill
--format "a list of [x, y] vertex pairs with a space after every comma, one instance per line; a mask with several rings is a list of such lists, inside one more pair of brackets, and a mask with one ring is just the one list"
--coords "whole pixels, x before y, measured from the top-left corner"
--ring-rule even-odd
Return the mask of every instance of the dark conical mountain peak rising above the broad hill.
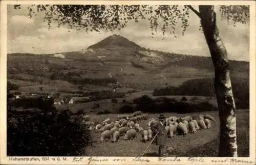
[[116, 47], [125, 47], [125, 48], [135, 48], [140, 49], [141, 47], [136, 43], [120, 36], [120, 35], [111, 35], [98, 43], [89, 46], [88, 48], [116, 48]]

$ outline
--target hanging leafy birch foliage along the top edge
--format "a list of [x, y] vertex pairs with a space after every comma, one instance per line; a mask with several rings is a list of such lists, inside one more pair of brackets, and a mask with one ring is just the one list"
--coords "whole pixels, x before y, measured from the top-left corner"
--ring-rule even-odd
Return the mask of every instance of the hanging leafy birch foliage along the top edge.
[[[20, 5], [14, 5], [20, 9]], [[57, 26], [68, 25], [69, 29], [86, 32], [100, 32], [100, 30], [121, 30], [131, 20], [136, 23], [141, 19], [148, 19], [152, 35], [159, 26], [163, 36], [166, 32], [176, 37], [177, 25], [181, 24], [182, 35], [188, 28], [190, 11], [200, 14], [191, 6], [178, 5], [30, 5], [29, 17], [37, 12], [44, 12], [44, 20], [48, 21], [49, 28], [53, 22]], [[190, 10], [191, 9], [191, 10]], [[234, 23], [246, 23], [249, 17], [249, 6], [220, 6], [222, 18]]]

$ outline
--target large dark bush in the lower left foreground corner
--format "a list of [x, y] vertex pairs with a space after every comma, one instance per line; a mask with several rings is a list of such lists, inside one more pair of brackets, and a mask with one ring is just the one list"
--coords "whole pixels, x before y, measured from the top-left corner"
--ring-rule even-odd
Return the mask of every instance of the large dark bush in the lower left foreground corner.
[[[75, 118], [78, 118], [77, 116]], [[83, 156], [90, 131], [68, 110], [61, 113], [8, 113], [8, 156]]]

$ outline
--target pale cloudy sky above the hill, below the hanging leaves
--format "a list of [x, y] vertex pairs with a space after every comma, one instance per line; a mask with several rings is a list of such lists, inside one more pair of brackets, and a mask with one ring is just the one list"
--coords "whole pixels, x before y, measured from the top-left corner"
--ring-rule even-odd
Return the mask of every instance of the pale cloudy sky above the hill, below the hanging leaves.
[[[19, 10], [15, 10], [11, 5], [7, 7], [8, 53], [41, 54], [78, 51], [110, 35], [119, 34], [145, 48], [195, 56], [210, 56], [204, 35], [199, 31], [200, 20], [193, 12], [189, 14], [189, 27], [184, 36], [177, 35], [175, 38], [167, 33], [164, 40], [162, 40], [161, 28], [152, 38], [150, 24], [146, 20], [141, 20], [139, 23], [131, 21], [121, 31], [113, 33], [103, 31], [87, 34], [83, 30], [68, 32], [65, 26], [57, 28], [56, 23], [48, 30], [47, 23], [43, 22], [43, 13], [38, 13], [32, 19], [29, 18], [28, 13], [27, 6]], [[228, 58], [249, 61], [249, 23], [238, 23], [234, 27], [233, 24], [221, 20], [218, 10], [216, 13], [217, 26], [227, 49]]]

